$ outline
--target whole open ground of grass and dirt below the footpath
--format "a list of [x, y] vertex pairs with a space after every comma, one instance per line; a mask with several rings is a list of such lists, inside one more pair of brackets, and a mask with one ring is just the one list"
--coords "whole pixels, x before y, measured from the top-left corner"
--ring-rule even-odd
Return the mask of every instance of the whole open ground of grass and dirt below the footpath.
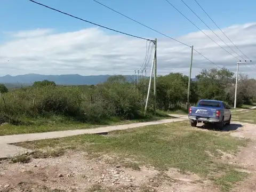
[[17, 143], [36, 152], [3, 161], [0, 185], [5, 191], [253, 191], [255, 128], [236, 123], [220, 132], [183, 121]]

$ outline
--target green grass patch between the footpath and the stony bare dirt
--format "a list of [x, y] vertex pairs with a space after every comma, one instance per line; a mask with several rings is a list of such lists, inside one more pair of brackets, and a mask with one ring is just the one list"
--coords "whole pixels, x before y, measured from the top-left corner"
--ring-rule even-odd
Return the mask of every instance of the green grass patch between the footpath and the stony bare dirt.
[[[193, 172], [211, 179], [222, 191], [244, 178], [245, 173], [220, 161], [222, 153], [233, 154], [247, 140], [230, 137], [225, 132], [191, 129], [188, 121], [115, 131], [108, 135], [79, 135], [62, 139], [18, 143], [35, 149], [35, 158], [60, 156], [67, 150], [86, 151], [91, 158], [114, 156], [118, 163], [137, 169], [151, 165], [160, 171], [171, 167], [182, 173]], [[129, 158], [130, 162], [120, 159]], [[112, 162], [116, 163], [116, 162]]]

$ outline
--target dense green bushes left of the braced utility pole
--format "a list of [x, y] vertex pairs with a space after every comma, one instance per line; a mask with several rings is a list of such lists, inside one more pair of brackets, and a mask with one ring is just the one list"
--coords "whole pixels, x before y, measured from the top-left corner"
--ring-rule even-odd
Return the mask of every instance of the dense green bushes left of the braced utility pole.
[[4, 100], [0, 103], [0, 123], [12, 124], [24, 124], [20, 119], [54, 115], [82, 122], [100, 122], [111, 117], [134, 119], [139, 117], [142, 108], [138, 90], [134, 90], [132, 84], [122, 82], [106, 82], [86, 88], [32, 86], [5, 93]]

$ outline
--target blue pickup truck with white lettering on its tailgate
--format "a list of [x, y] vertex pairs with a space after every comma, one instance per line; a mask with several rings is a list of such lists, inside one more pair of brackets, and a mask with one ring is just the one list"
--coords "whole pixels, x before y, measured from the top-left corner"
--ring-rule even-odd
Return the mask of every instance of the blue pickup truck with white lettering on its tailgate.
[[188, 112], [190, 125], [195, 127], [197, 123], [213, 123], [219, 129], [230, 125], [231, 110], [223, 101], [199, 100], [196, 107], [190, 107]]

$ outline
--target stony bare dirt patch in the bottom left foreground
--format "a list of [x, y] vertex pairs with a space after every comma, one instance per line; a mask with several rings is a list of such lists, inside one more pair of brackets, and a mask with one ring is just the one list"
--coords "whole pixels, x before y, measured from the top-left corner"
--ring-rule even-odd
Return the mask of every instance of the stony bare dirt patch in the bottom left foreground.
[[87, 154], [79, 152], [55, 158], [31, 158], [28, 163], [5, 160], [0, 164], [0, 178], [0, 191], [6, 192], [93, 191], [97, 187], [104, 192], [217, 191], [194, 174], [182, 175], [177, 170], [164, 173], [146, 166], [132, 170], [100, 158], [89, 159]]

